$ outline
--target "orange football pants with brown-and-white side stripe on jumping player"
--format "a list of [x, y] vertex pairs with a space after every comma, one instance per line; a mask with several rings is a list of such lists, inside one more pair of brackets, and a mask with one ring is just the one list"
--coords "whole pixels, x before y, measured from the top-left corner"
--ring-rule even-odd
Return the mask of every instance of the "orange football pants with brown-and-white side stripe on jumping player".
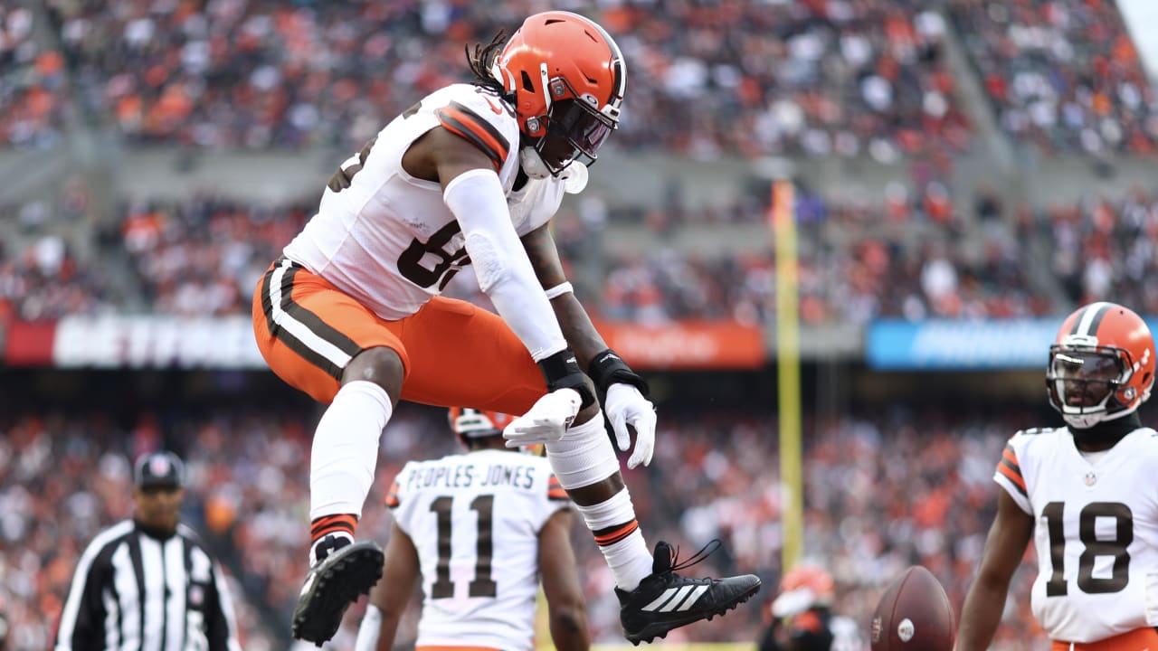
[[350, 360], [375, 346], [402, 358], [402, 400], [519, 415], [547, 392], [538, 366], [498, 315], [435, 297], [411, 316], [386, 321], [285, 258], [257, 284], [254, 334], [279, 378], [327, 404]]

